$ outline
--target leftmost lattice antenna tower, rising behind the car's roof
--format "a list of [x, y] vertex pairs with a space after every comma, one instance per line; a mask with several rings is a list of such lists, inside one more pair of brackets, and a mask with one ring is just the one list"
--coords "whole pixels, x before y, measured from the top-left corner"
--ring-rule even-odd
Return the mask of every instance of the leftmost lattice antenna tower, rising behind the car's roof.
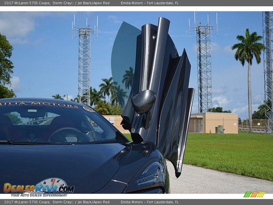
[[[79, 23], [80, 24], [80, 23]], [[78, 100], [82, 104], [90, 105], [90, 61], [91, 61], [91, 35], [98, 37], [98, 16], [97, 26], [90, 28], [88, 19], [86, 18], [86, 26], [84, 28], [75, 26], [75, 14], [72, 21], [72, 39], [75, 34], [79, 35], [79, 54], [78, 54]]]

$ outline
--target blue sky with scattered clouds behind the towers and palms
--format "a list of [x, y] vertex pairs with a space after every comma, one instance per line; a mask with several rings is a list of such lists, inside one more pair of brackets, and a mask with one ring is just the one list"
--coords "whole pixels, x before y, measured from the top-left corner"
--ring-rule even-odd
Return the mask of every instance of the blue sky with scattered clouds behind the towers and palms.
[[[119, 26], [123, 21], [141, 28], [143, 24], [158, 23], [158, 17], [171, 21], [169, 34], [180, 54], [186, 49], [192, 69], [190, 87], [196, 89], [193, 113], [198, 112], [196, 38], [189, 35], [189, 19], [193, 12], [1, 12], [0, 32], [13, 45], [14, 63], [12, 89], [17, 97], [45, 97], [78, 94], [78, 39], [72, 40], [71, 23], [85, 26], [86, 17], [91, 28], [99, 16], [99, 32], [91, 45], [91, 83], [99, 89], [102, 78], [111, 77], [111, 50]], [[197, 22], [216, 25], [216, 12], [198, 12]], [[212, 36], [212, 99], [213, 106], [248, 117], [247, 65], [242, 67], [234, 59], [231, 46], [245, 29], [262, 35], [262, 12], [218, 12], [218, 37]], [[213, 34], [216, 31], [212, 31]], [[262, 58], [263, 59], [263, 58]], [[253, 111], [264, 100], [263, 63], [253, 63], [251, 72]]]

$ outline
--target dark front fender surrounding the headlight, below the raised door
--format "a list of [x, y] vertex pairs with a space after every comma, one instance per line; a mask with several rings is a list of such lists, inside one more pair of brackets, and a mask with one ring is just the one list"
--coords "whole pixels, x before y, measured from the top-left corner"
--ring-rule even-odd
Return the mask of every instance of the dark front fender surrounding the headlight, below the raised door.
[[[134, 183], [137, 181], [141, 173], [148, 165], [158, 162], [164, 167], [164, 183], [154, 183], [145, 187], [136, 188]], [[117, 187], [124, 193], [169, 193], [169, 174], [164, 157], [155, 144], [151, 142], [142, 142], [140, 144], [132, 144], [130, 154], [121, 165], [119, 171], [113, 176], [111, 181], [107, 183], [101, 190], [95, 193], [116, 193], [111, 187]], [[156, 190], [156, 191], [155, 191]]]

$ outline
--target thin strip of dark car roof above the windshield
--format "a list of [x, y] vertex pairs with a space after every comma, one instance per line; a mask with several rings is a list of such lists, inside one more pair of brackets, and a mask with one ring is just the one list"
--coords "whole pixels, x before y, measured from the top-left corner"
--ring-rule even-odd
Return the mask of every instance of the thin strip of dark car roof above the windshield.
[[[67, 101], [67, 100], [58, 100], [58, 99], [51, 99], [51, 98], [3, 98], [0, 99], [0, 102], [44, 102], [44, 103], [64, 103], [64, 104], [71, 104], [71, 105], [85, 105], [81, 103], [76, 103], [74, 101]], [[87, 105], [85, 105], [87, 106]]]

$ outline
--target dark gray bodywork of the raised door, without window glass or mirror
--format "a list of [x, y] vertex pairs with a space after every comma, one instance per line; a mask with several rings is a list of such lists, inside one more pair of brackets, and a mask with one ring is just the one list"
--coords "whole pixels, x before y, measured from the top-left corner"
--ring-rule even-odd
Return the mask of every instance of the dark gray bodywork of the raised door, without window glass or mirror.
[[[160, 17], [158, 26], [142, 26], [141, 58], [138, 62], [136, 57], [134, 87], [122, 117], [123, 127], [131, 132], [133, 141], [156, 144], [164, 157], [172, 162], [179, 177], [194, 89], [188, 89], [191, 65], [187, 54], [184, 50], [179, 57], [168, 35], [169, 23]], [[131, 99], [147, 89], [155, 93], [151, 108], [144, 114], [138, 113], [137, 109], [132, 111]]]

